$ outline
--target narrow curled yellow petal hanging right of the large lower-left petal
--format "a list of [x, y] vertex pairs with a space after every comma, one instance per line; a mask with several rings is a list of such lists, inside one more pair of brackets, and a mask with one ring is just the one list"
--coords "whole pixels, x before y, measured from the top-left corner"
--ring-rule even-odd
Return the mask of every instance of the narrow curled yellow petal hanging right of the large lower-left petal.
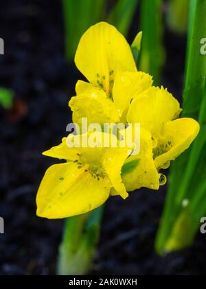
[[125, 186], [122, 183], [122, 166], [128, 157], [127, 148], [111, 148], [105, 153], [103, 167], [108, 175], [113, 188], [117, 192], [116, 195], [121, 195], [124, 199], [128, 197]]

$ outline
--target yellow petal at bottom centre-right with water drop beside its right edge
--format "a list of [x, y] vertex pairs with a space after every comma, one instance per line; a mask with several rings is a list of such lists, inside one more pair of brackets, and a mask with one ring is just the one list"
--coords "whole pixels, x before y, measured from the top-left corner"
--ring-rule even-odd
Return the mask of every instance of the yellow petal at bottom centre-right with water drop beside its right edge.
[[141, 127], [141, 147], [137, 156], [130, 156], [125, 162], [129, 164], [138, 160], [137, 166], [132, 171], [122, 174], [122, 181], [127, 191], [148, 188], [153, 190], [159, 189], [159, 173], [155, 167], [152, 156], [152, 137], [150, 132]]

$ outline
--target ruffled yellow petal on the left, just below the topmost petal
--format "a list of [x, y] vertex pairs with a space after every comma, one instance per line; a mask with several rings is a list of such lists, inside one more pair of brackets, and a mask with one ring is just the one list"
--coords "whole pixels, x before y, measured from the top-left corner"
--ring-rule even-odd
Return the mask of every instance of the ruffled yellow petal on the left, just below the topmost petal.
[[82, 124], [82, 118], [87, 118], [88, 124], [119, 122], [113, 101], [98, 87], [88, 87], [84, 94], [71, 98], [69, 107], [73, 111], [73, 122], [78, 125]]

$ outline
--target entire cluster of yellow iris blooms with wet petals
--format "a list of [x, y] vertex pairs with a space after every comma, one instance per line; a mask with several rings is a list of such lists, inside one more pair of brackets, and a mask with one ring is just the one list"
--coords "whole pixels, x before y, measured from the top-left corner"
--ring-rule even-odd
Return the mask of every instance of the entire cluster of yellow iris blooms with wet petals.
[[50, 167], [43, 178], [36, 200], [41, 217], [79, 215], [110, 195], [126, 198], [127, 191], [141, 187], [159, 189], [159, 170], [190, 147], [199, 131], [195, 120], [178, 119], [181, 108], [172, 94], [152, 87], [152, 77], [137, 71], [130, 46], [112, 25], [89, 28], [75, 62], [89, 83], [78, 81], [77, 96], [69, 102], [73, 122], [140, 123], [141, 151], [128, 157], [128, 148], [70, 149], [64, 139], [44, 153], [67, 162]]

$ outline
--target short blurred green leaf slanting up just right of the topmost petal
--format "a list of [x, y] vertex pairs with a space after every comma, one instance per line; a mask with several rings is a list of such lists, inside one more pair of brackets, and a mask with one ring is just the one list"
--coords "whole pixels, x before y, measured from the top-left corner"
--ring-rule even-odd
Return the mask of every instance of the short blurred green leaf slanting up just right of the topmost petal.
[[115, 25], [126, 36], [133, 21], [137, 4], [138, 0], [118, 0], [108, 17], [108, 23]]

